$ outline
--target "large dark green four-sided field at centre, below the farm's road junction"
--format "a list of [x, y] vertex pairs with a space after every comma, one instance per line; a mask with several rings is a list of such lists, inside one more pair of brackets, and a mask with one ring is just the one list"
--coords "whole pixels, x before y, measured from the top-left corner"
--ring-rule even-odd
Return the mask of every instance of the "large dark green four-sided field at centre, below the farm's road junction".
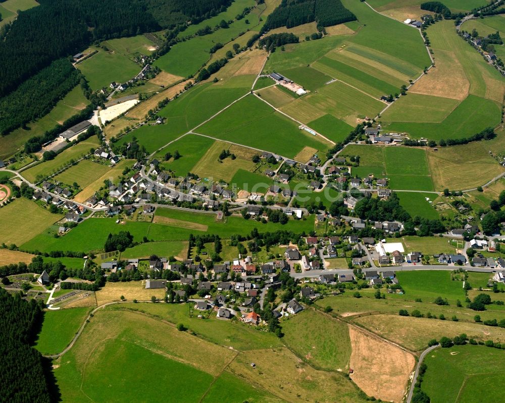
[[268, 150], [293, 158], [308, 146], [326, 150], [329, 144], [300, 131], [297, 124], [274, 112], [255, 96], [247, 96], [198, 128], [198, 133]]

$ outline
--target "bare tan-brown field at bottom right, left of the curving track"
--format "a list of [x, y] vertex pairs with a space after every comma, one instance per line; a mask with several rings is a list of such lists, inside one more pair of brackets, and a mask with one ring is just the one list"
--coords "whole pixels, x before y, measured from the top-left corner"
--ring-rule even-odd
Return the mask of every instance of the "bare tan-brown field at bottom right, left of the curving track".
[[401, 401], [416, 363], [414, 356], [354, 327], [349, 327], [349, 336], [352, 380], [368, 395]]

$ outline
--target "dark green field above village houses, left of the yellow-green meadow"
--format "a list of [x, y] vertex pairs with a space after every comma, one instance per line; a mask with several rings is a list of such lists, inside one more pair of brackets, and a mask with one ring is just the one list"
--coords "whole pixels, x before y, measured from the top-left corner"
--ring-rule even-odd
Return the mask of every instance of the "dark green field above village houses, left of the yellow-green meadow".
[[[163, 169], [170, 169], [177, 176], [185, 176], [188, 172], [192, 172], [193, 166], [205, 155], [213, 144], [213, 139], [188, 134], [162, 149], [156, 156], [162, 159], [160, 165]], [[181, 155], [179, 159], [174, 160], [172, 157], [169, 161], [164, 161], [164, 155], [167, 152], [171, 152], [173, 155], [175, 151], [179, 151]]]

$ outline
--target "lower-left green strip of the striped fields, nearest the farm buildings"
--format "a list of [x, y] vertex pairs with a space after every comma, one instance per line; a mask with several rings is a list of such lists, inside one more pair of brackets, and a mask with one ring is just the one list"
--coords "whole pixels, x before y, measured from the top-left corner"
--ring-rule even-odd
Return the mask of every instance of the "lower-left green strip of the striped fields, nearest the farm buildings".
[[349, 66], [343, 62], [330, 57], [322, 57], [314, 67], [331, 77], [338, 78], [346, 84], [355, 86], [373, 95], [375, 98], [380, 98], [385, 94], [395, 94], [399, 92], [399, 87], [395, 87], [385, 81], [365, 73], [358, 68]]

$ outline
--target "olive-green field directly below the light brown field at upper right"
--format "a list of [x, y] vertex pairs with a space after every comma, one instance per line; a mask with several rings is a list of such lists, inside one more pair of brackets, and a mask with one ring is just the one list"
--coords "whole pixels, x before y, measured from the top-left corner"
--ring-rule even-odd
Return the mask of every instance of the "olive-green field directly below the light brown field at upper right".
[[381, 119], [384, 122], [440, 123], [459, 103], [457, 99], [409, 93], [396, 100]]

